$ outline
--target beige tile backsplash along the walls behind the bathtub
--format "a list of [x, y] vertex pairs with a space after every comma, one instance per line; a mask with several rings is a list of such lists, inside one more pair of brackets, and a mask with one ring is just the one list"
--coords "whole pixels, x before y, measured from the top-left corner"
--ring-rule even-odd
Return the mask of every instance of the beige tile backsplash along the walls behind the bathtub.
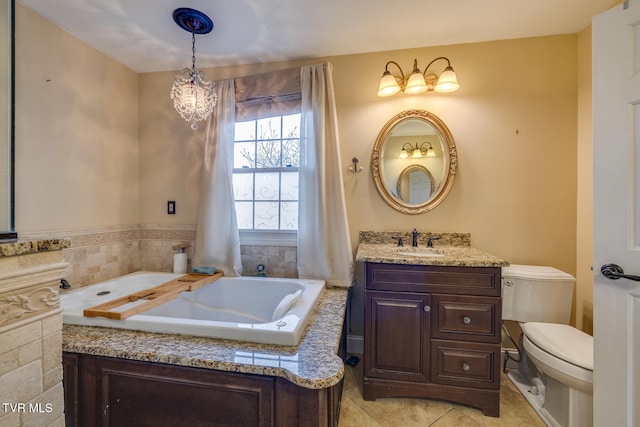
[[[185, 252], [190, 269], [195, 235], [195, 226], [192, 225], [148, 224], [23, 233], [21, 238], [29, 242], [11, 243], [0, 250], [6, 254], [25, 253], [61, 242], [64, 259], [69, 262], [65, 278], [72, 289], [77, 289], [135, 271], [171, 272], [176, 252], [173, 246], [179, 243], [189, 245]], [[43, 243], [34, 245], [33, 242]], [[255, 275], [256, 266], [263, 264], [267, 276], [298, 277], [295, 246], [242, 245], [240, 251], [244, 275]]]

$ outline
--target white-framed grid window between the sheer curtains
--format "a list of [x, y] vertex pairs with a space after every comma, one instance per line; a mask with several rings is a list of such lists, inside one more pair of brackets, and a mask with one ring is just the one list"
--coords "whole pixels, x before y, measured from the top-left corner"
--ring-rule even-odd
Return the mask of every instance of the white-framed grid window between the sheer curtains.
[[241, 233], [298, 229], [300, 114], [236, 122], [233, 193]]

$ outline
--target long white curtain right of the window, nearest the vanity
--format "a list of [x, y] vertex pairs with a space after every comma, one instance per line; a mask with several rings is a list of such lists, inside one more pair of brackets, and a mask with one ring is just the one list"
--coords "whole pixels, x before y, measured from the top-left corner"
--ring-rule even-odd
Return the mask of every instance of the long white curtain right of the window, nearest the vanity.
[[298, 275], [351, 286], [353, 252], [347, 221], [330, 63], [301, 68]]

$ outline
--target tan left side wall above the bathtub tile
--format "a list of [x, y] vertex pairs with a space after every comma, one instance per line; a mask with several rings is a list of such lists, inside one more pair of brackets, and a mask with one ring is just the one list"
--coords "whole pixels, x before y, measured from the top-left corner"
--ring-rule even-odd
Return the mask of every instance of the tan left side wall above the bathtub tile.
[[138, 75], [16, 4], [16, 230], [135, 225]]

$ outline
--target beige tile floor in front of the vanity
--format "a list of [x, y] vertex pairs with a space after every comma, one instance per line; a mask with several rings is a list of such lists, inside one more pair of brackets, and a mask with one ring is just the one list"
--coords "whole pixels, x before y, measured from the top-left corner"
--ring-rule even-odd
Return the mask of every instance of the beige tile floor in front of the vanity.
[[500, 418], [492, 418], [485, 417], [478, 409], [437, 400], [384, 398], [365, 401], [362, 399], [362, 372], [362, 359], [355, 367], [346, 366], [339, 427], [545, 425], [504, 374], [500, 387]]

